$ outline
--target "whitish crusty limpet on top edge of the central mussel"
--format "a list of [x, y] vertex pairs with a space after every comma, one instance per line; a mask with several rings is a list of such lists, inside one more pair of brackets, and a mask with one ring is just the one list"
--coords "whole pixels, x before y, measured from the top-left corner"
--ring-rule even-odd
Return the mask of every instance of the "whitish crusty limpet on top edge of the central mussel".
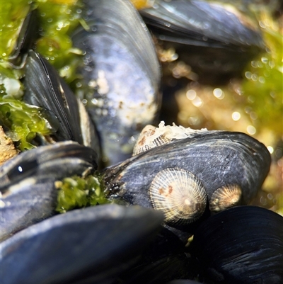
[[207, 131], [207, 129], [193, 130], [190, 127], [177, 126], [175, 123], [173, 123], [172, 126], [165, 125], [164, 121], [161, 121], [158, 127], [146, 125], [146, 127], [141, 130], [141, 134], [134, 146], [133, 156], [173, 140], [184, 139], [196, 132], [204, 131]]

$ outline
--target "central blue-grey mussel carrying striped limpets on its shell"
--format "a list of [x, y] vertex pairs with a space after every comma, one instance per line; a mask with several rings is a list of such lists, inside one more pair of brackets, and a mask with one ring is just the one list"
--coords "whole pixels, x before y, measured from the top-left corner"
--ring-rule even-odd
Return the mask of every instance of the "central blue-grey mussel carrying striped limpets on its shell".
[[137, 143], [154, 145], [162, 136], [166, 144], [105, 169], [105, 186], [110, 198], [163, 210], [173, 227], [195, 222], [207, 206], [218, 212], [250, 203], [270, 168], [267, 148], [241, 132], [194, 132], [161, 123]]

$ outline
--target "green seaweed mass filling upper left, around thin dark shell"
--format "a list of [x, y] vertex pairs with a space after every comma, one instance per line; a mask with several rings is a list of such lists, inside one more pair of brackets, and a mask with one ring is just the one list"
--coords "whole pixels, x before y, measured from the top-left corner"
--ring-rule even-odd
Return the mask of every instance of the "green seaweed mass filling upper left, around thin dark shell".
[[70, 37], [81, 21], [80, 1], [11, 0], [1, 3], [1, 125], [4, 125], [7, 135], [17, 142], [16, 147], [21, 151], [33, 148], [35, 137], [50, 135], [56, 128], [52, 115], [21, 102], [24, 93], [21, 82], [24, 68], [16, 68], [10, 62], [23, 21], [34, 8], [39, 12], [40, 32], [35, 50], [48, 59], [69, 84], [77, 78], [76, 67], [81, 62], [81, 51], [73, 47]]

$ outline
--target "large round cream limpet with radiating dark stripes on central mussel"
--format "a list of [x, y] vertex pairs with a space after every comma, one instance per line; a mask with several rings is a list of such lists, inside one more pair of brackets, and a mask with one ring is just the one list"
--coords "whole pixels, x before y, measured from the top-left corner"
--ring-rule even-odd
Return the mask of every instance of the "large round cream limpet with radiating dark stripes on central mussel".
[[154, 177], [149, 188], [153, 207], [163, 211], [170, 225], [187, 225], [202, 216], [207, 193], [200, 180], [190, 171], [168, 168]]

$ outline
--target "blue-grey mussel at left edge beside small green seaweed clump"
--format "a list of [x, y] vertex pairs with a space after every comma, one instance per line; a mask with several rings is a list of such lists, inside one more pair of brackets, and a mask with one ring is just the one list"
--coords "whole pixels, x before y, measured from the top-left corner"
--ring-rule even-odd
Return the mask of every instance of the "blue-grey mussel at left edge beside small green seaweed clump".
[[97, 168], [93, 149], [58, 142], [22, 152], [1, 166], [1, 238], [54, 214], [54, 182]]

